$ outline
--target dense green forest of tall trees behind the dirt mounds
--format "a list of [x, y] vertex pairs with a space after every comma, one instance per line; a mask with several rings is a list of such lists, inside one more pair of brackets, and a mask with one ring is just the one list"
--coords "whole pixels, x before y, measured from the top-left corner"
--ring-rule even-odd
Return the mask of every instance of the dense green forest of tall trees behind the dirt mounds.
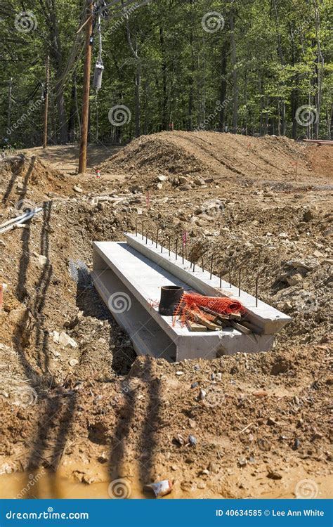
[[[48, 144], [79, 141], [87, 5], [1, 3], [1, 145], [41, 145], [48, 56]], [[92, 143], [170, 129], [332, 138], [331, 0], [98, 0], [94, 11]]]

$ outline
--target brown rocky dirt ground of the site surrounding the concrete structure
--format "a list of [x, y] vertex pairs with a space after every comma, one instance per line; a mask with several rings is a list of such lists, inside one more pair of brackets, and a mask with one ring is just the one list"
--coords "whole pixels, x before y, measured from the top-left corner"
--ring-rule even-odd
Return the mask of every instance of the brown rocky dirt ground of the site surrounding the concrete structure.
[[[108, 497], [117, 479], [130, 497], [162, 479], [167, 498], [332, 497], [333, 148], [175, 131], [92, 152], [84, 176], [74, 146], [0, 160], [0, 223], [43, 207], [0, 235], [0, 497]], [[136, 357], [89, 271], [92, 242], [137, 216], [249, 293], [259, 273], [292, 316], [274, 349]]]

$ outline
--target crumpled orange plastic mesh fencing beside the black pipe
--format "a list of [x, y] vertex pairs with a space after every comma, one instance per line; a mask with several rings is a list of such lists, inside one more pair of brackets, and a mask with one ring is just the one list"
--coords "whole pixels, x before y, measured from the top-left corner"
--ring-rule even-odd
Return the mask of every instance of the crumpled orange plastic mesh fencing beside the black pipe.
[[235, 299], [228, 297], [204, 297], [202, 294], [197, 293], [183, 293], [181, 301], [174, 312], [173, 325], [176, 324], [176, 317], [178, 315], [181, 317], [181, 325], [185, 325], [187, 320], [192, 321], [195, 318], [195, 313], [200, 314], [206, 320], [211, 320], [211, 315], [202, 311], [201, 308], [209, 308], [214, 313], [224, 316], [233, 313], [242, 314], [246, 311], [240, 301]]

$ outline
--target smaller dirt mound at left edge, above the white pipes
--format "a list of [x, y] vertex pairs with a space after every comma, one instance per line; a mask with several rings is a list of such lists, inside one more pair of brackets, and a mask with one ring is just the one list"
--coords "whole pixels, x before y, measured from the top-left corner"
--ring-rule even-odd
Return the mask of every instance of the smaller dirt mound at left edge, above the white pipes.
[[48, 193], [65, 193], [72, 186], [65, 176], [39, 157], [15, 155], [0, 159], [0, 206], [37, 205]]

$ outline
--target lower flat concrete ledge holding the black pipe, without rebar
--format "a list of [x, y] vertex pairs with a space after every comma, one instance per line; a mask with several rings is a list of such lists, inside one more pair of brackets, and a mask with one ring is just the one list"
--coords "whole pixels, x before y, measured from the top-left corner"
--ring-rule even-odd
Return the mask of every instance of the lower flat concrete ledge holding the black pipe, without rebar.
[[215, 358], [237, 351], [267, 351], [273, 335], [245, 335], [233, 327], [192, 333], [172, 317], [159, 315], [162, 285], [193, 290], [180, 278], [124, 242], [94, 242], [93, 283], [139, 355], [167, 360]]

